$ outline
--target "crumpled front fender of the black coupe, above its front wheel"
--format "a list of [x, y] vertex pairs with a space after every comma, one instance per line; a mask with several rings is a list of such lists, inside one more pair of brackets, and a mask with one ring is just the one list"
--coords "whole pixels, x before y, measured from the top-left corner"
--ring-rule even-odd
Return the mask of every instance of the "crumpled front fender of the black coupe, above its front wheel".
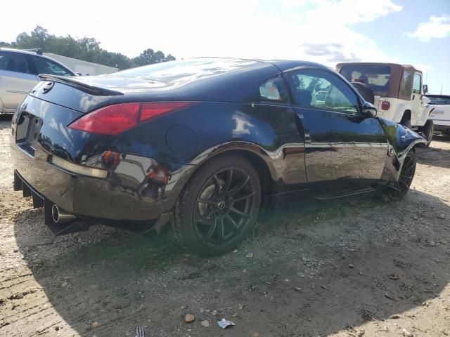
[[403, 166], [406, 154], [418, 144], [427, 144], [427, 140], [418, 133], [401, 124], [380, 118], [380, 123], [385, 130], [389, 148], [383, 170], [382, 180], [397, 181]]

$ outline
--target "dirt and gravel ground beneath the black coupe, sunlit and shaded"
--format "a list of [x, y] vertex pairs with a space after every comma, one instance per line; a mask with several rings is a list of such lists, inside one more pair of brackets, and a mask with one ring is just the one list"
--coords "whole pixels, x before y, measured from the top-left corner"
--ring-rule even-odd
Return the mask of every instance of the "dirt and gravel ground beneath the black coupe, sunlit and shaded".
[[13, 192], [9, 132], [3, 119], [0, 336], [450, 336], [450, 138], [418, 149], [403, 201], [286, 210], [205, 259], [167, 235], [53, 237]]

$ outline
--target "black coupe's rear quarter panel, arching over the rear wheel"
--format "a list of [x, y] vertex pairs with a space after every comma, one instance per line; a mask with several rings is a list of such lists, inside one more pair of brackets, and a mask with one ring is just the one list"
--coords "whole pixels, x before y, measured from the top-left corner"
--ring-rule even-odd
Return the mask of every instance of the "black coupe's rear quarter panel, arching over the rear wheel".
[[274, 193], [306, 186], [304, 139], [293, 107], [212, 103], [191, 105], [123, 133], [118, 152], [200, 166], [217, 154], [252, 152], [268, 167]]

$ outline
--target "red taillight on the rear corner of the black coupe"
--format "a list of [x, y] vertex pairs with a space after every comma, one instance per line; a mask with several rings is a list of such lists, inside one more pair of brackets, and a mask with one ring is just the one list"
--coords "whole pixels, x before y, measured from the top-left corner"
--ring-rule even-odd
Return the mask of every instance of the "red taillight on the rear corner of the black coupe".
[[102, 107], [77, 119], [69, 128], [102, 135], [117, 135], [143, 121], [179, 110], [192, 102], [122, 103]]

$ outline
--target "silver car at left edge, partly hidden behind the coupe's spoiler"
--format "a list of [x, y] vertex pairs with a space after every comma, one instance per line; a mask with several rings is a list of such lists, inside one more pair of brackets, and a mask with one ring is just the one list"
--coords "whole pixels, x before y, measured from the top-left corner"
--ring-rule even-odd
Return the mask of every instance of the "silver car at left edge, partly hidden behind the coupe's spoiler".
[[25, 96], [39, 82], [38, 74], [75, 76], [60, 62], [41, 51], [0, 48], [0, 114], [14, 113]]

